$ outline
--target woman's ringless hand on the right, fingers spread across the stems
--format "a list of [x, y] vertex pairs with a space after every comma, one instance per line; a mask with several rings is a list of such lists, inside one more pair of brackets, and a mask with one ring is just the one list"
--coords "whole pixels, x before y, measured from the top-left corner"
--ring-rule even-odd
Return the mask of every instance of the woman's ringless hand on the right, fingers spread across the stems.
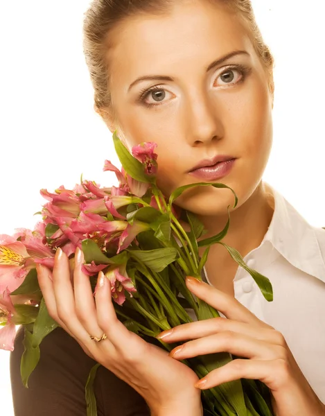
[[[283, 338], [270, 325], [259, 320], [222, 291], [193, 277], [186, 285], [200, 299], [222, 312], [228, 319], [213, 318], [182, 324], [163, 331], [166, 343], [189, 342], [173, 349], [176, 360], [215, 352], [229, 352], [247, 359], [235, 359], [209, 373], [197, 383], [209, 389], [227, 381], [259, 379], [270, 388], [276, 416], [324, 416], [325, 406], [313, 392]], [[163, 337], [161, 337], [163, 336]]]

